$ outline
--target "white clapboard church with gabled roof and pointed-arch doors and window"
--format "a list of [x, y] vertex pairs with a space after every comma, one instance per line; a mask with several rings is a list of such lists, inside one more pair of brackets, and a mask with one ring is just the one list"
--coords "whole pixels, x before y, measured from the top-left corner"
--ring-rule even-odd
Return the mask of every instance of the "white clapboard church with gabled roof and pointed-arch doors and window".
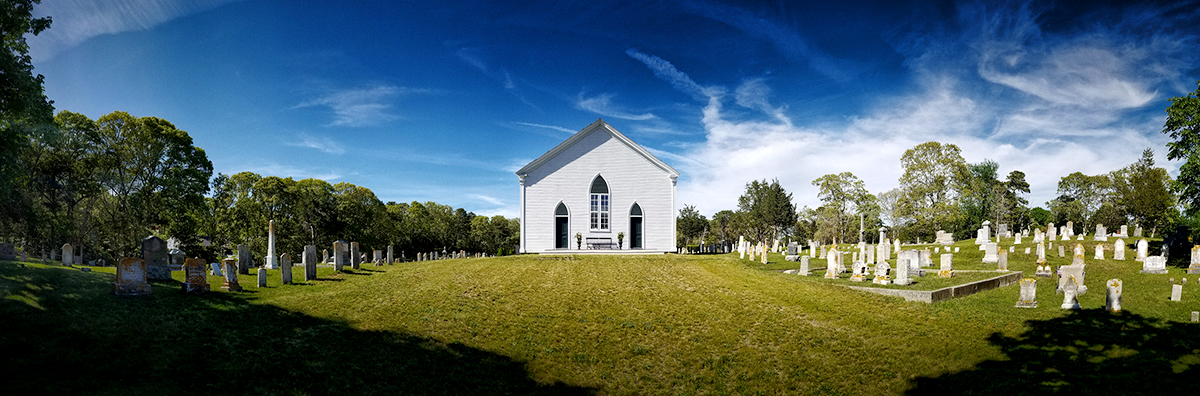
[[676, 251], [679, 172], [604, 120], [524, 166], [517, 178], [522, 253]]

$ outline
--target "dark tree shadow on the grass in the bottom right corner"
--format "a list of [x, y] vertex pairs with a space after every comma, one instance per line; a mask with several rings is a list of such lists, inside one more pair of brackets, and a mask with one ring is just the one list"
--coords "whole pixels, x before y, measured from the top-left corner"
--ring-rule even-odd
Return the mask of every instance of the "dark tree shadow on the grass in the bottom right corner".
[[1200, 325], [1100, 308], [1027, 324], [1016, 337], [989, 337], [1008, 360], [917, 378], [907, 394], [1200, 394]]

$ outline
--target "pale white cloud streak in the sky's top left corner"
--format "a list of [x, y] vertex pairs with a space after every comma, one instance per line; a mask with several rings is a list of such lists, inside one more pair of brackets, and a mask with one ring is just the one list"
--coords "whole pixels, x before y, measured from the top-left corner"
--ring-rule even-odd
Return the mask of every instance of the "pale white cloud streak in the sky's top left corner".
[[28, 37], [35, 60], [48, 60], [59, 52], [91, 37], [146, 30], [168, 20], [205, 12], [241, 0], [52, 0], [34, 7], [38, 17], [54, 22], [37, 36]]

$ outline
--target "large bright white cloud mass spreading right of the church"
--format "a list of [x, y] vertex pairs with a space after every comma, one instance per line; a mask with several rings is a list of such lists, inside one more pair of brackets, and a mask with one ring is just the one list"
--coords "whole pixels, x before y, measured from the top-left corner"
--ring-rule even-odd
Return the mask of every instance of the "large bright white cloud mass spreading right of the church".
[[[1036, 19], [1019, 16], [1027, 10], [990, 12], [1009, 13], [998, 18], [1008, 23], [1000, 28], [1033, 31], [1021, 25]], [[1015, 34], [1003, 44], [996, 41], [1003, 35], [972, 31], [960, 32], [956, 42], [929, 40], [956, 47], [907, 54], [913, 85], [841, 122], [796, 124], [786, 107], [773, 104], [770, 82], [750, 78], [732, 90], [732, 98], [709, 96], [700, 119], [704, 142], [677, 154], [652, 152], [684, 174], [678, 202], [703, 212], [736, 208], [751, 180], [778, 178], [797, 204], [808, 206], [820, 205], [811, 181], [826, 174], [852, 172], [871, 192], [883, 192], [899, 186], [904, 152], [931, 140], [958, 145], [967, 162], [997, 161], [1001, 176], [1024, 172], [1031, 205], [1044, 205], [1069, 173], [1102, 174], [1133, 163], [1142, 149], [1163, 151], [1162, 118], [1139, 112], [1160, 103], [1171, 79], [1198, 66], [1195, 46], [1187, 44], [1195, 38], [1144, 28], [1141, 35], [1038, 31], [1037, 40], [1028, 40], [1028, 34]], [[976, 62], [977, 73], [962, 72], [964, 59]], [[700, 86], [679, 84], [691, 82], [683, 72], [665, 78], [647, 66], [677, 90]], [[997, 90], [1006, 89], [1010, 94], [997, 100]], [[730, 110], [731, 104], [740, 110]], [[1163, 157], [1158, 152], [1160, 166], [1175, 167]]]

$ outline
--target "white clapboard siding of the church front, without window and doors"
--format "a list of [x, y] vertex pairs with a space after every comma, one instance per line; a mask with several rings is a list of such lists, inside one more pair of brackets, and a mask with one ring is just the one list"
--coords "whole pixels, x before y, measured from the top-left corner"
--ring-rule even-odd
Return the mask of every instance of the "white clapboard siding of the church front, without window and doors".
[[[596, 175], [608, 184], [610, 229], [589, 230], [588, 199]], [[679, 172], [650, 155], [604, 120], [596, 120], [521, 170], [521, 251], [554, 250], [554, 208], [570, 211], [570, 247], [575, 233], [583, 238], [612, 238], [625, 233], [629, 248], [629, 211], [642, 208], [643, 250], [674, 252], [674, 192]]]

